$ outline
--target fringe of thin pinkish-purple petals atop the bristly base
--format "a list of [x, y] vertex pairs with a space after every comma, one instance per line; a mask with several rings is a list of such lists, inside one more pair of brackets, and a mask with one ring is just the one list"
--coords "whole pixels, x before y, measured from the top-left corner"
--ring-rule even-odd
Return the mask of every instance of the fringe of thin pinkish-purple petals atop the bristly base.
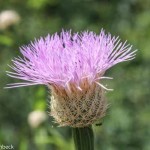
[[71, 33], [62, 31], [60, 34], [48, 35], [22, 46], [23, 57], [12, 60], [13, 71], [8, 76], [25, 82], [8, 84], [7, 88], [36, 84], [55, 85], [69, 89], [74, 84], [82, 90], [80, 83], [85, 78], [88, 84], [93, 82], [107, 89], [98, 81], [104, 77], [107, 69], [117, 63], [132, 60], [135, 51], [119, 37], [94, 32]]

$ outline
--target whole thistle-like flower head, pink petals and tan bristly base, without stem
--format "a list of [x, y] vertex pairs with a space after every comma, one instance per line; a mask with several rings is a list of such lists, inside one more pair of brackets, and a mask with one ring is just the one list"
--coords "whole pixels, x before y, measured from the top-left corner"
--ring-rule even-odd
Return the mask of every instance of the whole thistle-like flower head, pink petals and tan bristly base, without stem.
[[102, 79], [117, 63], [132, 60], [135, 51], [118, 37], [101, 30], [48, 35], [20, 48], [15, 58], [13, 78], [26, 82], [8, 84], [21, 87], [45, 84], [51, 89], [51, 115], [61, 126], [83, 127], [102, 118], [107, 109]]

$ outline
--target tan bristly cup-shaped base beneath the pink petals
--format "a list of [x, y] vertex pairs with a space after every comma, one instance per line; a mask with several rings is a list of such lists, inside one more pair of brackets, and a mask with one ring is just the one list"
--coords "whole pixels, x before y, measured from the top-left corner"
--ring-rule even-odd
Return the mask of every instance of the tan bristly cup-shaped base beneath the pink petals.
[[87, 127], [105, 115], [107, 102], [103, 89], [96, 84], [82, 89], [74, 87], [71, 92], [52, 89], [50, 114], [60, 126]]

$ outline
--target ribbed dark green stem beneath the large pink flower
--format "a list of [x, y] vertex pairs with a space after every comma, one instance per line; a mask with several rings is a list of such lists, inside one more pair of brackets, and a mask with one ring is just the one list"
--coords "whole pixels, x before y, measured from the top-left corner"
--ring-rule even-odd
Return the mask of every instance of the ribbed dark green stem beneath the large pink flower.
[[75, 150], [94, 150], [94, 134], [92, 126], [72, 128]]

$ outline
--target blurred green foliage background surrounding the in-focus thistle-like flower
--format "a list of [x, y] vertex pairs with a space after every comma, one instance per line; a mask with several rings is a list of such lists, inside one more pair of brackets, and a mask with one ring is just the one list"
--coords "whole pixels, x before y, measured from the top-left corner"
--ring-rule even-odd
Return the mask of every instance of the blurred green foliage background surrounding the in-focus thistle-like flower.
[[95, 146], [150, 150], [149, 0], [0, 0], [0, 145], [12, 144], [15, 150], [74, 150], [70, 128], [56, 127], [48, 116], [45, 86], [3, 89], [17, 82], [5, 71], [20, 55], [19, 47], [62, 28], [96, 33], [104, 28], [139, 50], [134, 61], [106, 73], [114, 80], [104, 83], [115, 90], [106, 94], [110, 108], [103, 125], [93, 126]]

